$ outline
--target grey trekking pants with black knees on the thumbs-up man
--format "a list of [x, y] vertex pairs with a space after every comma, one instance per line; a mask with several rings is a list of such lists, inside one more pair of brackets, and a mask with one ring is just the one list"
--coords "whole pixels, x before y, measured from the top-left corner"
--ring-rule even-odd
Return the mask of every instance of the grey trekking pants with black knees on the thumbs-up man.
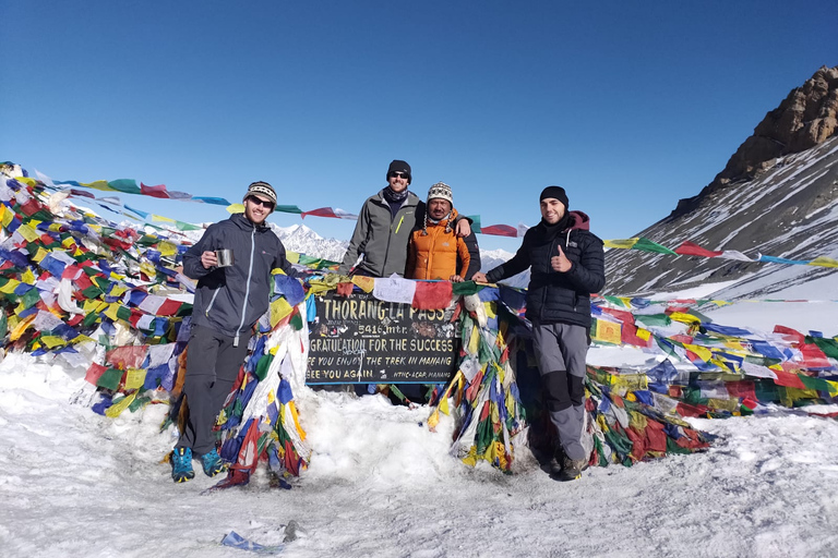
[[550, 421], [559, 433], [564, 454], [587, 460], [582, 444], [585, 427], [585, 359], [588, 331], [568, 324], [534, 325], [532, 340]]

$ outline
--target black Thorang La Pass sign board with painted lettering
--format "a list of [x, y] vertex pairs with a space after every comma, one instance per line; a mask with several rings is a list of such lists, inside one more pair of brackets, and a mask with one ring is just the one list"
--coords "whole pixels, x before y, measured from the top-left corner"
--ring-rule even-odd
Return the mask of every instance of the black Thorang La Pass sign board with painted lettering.
[[315, 296], [307, 384], [440, 384], [457, 364], [454, 308], [420, 311], [369, 293]]

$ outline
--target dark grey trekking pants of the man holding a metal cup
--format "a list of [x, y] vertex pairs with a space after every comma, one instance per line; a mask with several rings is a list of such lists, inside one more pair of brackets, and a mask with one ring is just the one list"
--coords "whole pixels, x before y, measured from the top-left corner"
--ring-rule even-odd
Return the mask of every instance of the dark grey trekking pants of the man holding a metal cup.
[[192, 448], [195, 456], [215, 448], [213, 426], [239, 375], [249, 340], [250, 330], [239, 337], [239, 347], [232, 347], [231, 337], [208, 327], [192, 325], [183, 383], [189, 417], [180, 434], [178, 448]]

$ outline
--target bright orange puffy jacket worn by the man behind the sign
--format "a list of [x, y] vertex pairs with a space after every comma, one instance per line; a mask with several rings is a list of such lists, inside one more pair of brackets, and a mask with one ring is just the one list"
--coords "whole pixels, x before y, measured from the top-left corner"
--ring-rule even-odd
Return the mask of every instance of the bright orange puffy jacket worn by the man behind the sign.
[[[457, 236], [454, 230], [454, 220], [457, 210], [451, 210], [452, 231], [445, 232], [448, 220], [442, 220], [436, 225], [428, 222], [428, 234], [422, 229], [417, 229], [410, 235], [410, 244], [407, 250], [408, 279], [444, 279], [458, 275], [465, 279], [470, 256], [468, 247], [463, 239]], [[460, 267], [457, 269], [457, 255]]]

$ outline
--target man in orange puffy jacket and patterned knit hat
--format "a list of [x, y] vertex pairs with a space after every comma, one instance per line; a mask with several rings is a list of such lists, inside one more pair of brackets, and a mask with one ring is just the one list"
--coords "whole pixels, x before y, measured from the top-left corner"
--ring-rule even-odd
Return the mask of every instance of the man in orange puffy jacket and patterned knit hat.
[[[422, 228], [410, 234], [407, 248], [409, 279], [443, 279], [459, 282], [468, 279], [471, 257], [468, 246], [454, 230], [457, 210], [451, 186], [438, 182], [428, 191], [428, 203]], [[459, 269], [457, 269], [459, 256]]]

